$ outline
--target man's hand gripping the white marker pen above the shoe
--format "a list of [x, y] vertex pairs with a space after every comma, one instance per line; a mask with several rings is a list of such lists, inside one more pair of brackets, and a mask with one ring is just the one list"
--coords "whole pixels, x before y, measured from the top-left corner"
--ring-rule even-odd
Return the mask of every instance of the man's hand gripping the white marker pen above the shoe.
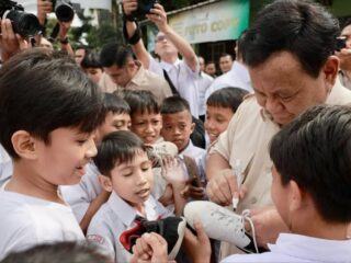
[[230, 169], [222, 170], [213, 175], [207, 183], [206, 192], [212, 202], [223, 206], [230, 205], [233, 196], [242, 198], [245, 195], [244, 187], [238, 191], [236, 176]]

